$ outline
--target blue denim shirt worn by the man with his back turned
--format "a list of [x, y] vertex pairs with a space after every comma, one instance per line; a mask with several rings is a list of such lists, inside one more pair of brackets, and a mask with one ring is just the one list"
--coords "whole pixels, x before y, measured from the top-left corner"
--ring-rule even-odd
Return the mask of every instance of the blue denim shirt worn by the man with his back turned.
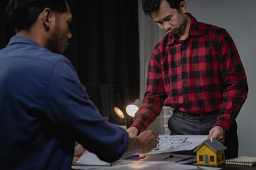
[[25, 36], [0, 50], [1, 169], [70, 169], [75, 141], [106, 162], [129, 143], [88, 98], [70, 61]]

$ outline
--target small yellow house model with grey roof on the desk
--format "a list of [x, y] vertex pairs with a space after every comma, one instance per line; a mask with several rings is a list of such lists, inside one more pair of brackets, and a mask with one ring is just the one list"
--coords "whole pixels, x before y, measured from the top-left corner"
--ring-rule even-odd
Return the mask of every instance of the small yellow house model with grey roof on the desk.
[[196, 147], [197, 165], [218, 166], [225, 162], [224, 150], [227, 149], [218, 140], [205, 140], [201, 145]]

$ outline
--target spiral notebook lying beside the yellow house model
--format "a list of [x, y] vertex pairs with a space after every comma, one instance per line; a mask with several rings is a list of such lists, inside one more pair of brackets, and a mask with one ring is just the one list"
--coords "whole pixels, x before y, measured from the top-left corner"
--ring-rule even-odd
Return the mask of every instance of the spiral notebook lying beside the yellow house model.
[[234, 165], [247, 165], [252, 166], [256, 164], [256, 157], [236, 157], [233, 159], [228, 159], [225, 161], [226, 164], [234, 164]]

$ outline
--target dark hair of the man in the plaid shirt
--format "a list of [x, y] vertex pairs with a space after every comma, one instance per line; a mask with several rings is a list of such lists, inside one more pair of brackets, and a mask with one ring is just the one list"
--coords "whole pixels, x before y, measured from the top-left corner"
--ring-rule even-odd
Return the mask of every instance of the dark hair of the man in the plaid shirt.
[[[142, 0], [142, 8], [145, 15], [151, 16], [151, 13], [154, 11], [158, 11], [161, 1], [164, 0]], [[176, 8], [180, 11], [180, 4], [184, 0], [166, 0], [171, 8]]]

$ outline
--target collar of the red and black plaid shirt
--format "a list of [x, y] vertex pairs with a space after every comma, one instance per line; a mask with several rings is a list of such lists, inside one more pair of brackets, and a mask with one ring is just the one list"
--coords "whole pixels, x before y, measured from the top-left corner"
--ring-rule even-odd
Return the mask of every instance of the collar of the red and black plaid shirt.
[[[188, 36], [201, 36], [203, 35], [203, 30], [199, 28], [199, 23], [196, 21], [196, 18], [194, 18], [191, 13], [187, 13], [188, 16], [191, 18], [191, 26], [189, 29], [189, 35]], [[173, 44], [176, 40], [173, 34], [169, 33], [169, 40], [167, 42], [167, 45]]]

